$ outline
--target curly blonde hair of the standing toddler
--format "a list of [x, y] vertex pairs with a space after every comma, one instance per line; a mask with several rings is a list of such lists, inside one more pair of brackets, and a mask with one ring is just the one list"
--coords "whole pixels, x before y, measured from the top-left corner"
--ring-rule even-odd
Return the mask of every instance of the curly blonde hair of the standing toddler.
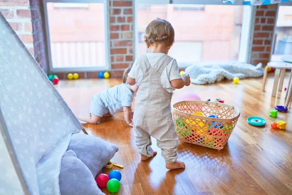
[[163, 42], [170, 47], [174, 42], [174, 29], [169, 21], [160, 18], [152, 20], [146, 27], [144, 41], [148, 46]]

